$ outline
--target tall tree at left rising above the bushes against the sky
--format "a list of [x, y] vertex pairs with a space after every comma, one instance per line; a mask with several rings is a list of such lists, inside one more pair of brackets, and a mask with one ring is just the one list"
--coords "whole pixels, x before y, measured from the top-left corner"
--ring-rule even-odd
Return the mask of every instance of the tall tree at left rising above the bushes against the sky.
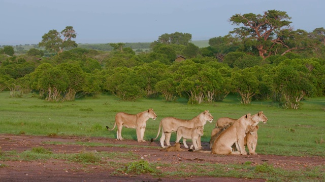
[[[63, 37], [63, 39], [61, 37]], [[63, 52], [64, 48], [76, 48], [78, 44], [74, 40], [71, 40], [76, 37], [76, 31], [72, 26], [67, 26], [61, 32], [53, 29], [42, 36], [39, 47], [45, 47], [46, 50], [59, 54]]]

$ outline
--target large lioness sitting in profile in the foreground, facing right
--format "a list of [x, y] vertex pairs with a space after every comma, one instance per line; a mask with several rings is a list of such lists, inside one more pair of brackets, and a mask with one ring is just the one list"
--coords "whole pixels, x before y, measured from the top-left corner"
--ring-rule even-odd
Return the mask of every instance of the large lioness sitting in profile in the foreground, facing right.
[[[242, 116], [233, 125], [225, 129], [218, 138], [215, 139], [212, 145], [212, 154], [242, 154], [247, 155], [244, 147], [244, 138], [246, 129], [249, 125], [254, 125], [256, 122], [252, 119], [250, 113]], [[232, 151], [232, 145], [238, 142], [239, 150]]]

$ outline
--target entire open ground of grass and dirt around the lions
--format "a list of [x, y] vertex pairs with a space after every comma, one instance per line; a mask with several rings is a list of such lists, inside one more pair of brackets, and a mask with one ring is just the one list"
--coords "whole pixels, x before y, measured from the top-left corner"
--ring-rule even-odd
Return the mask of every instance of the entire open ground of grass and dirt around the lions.
[[[325, 177], [325, 98], [308, 99], [300, 110], [283, 110], [271, 101], [242, 106], [236, 96], [202, 105], [161, 99], [123, 102], [107, 95], [51, 103], [31, 94], [9, 98], [3, 92], [0, 103], [1, 181], [322, 181]], [[147, 141], [156, 136], [160, 119], [191, 119], [209, 110], [215, 119], [205, 125], [204, 150], [209, 150], [219, 117], [239, 118], [262, 110], [269, 121], [259, 124], [255, 156], [164, 152], [159, 141], [138, 143], [135, 129], [123, 128], [125, 141], [115, 140], [116, 129], [106, 130], [106, 125], [113, 127], [117, 112], [136, 114], [149, 108], [158, 118], [147, 122]], [[175, 138], [172, 134], [171, 141]], [[147, 170], [129, 170], [142, 166], [137, 163], [141, 161], [147, 161], [148, 166], [143, 165]]]

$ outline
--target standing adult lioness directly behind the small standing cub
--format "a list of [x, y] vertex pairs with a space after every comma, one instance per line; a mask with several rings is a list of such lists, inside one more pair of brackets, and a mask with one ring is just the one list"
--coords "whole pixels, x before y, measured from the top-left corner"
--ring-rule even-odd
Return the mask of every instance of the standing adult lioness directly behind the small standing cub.
[[[211, 123], [212, 120], [213, 120], [213, 116], [207, 110], [200, 113], [198, 116], [193, 117], [191, 120], [178, 119], [174, 117], [163, 118], [161, 119], [159, 124], [158, 134], [155, 139], [151, 139], [151, 142], [153, 142], [158, 138], [160, 133], [160, 128], [161, 128], [162, 133], [160, 138], [160, 144], [161, 147], [165, 148], [164, 140], [166, 141], [167, 146], [170, 146], [171, 133], [177, 131], [179, 126], [193, 128], [196, 126], [204, 126], [207, 123], [207, 121]], [[198, 140], [198, 147], [202, 149], [201, 136]]]

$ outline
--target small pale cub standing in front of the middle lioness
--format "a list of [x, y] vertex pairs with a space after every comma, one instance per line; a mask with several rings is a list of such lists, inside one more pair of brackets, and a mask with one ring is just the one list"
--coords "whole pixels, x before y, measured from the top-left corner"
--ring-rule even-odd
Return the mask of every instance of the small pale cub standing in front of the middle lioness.
[[186, 145], [186, 139], [191, 139], [194, 149], [199, 150], [198, 140], [201, 136], [203, 136], [203, 126], [196, 126], [193, 128], [179, 126], [176, 132], [176, 143], [178, 143], [181, 138], [183, 138], [184, 147], [187, 149], [188, 146]]

